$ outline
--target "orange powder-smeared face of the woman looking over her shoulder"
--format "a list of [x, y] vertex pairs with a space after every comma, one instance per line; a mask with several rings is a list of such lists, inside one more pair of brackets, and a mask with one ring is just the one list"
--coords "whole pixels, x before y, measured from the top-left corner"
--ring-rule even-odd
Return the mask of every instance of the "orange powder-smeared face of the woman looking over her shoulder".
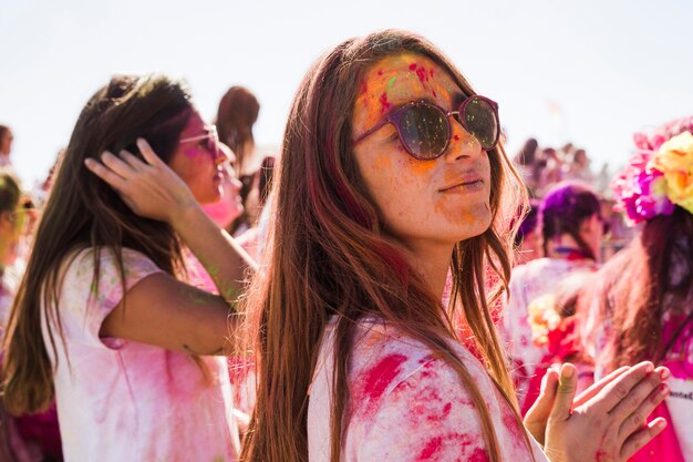
[[[465, 94], [431, 59], [402, 53], [375, 62], [363, 75], [353, 113], [353, 140], [411, 101], [456, 111]], [[454, 245], [490, 225], [490, 167], [479, 142], [449, 116], [442, 156], [420, 161], [403, 147], [393, 124], [354, 145], [366, 187], [389, 232], [411, 250]]]

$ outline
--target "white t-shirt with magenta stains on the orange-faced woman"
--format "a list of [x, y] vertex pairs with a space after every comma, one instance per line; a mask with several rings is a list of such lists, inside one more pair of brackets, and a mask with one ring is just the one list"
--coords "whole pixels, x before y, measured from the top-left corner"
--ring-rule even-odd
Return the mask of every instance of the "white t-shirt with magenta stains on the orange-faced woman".
[[[488, 460], [480, 417], [455, 370], [432, 351], [377, 320], [359, 324], [348, 381], [351, 419], [344, 419], [342, 462]], [[310, 462], [330, 460], [333, 327], [325, 330], [308, 405]], [[488, 405], [504, 461], [547, 461], [514, 418], [483, 366], [462, 346], [455, 351]]]

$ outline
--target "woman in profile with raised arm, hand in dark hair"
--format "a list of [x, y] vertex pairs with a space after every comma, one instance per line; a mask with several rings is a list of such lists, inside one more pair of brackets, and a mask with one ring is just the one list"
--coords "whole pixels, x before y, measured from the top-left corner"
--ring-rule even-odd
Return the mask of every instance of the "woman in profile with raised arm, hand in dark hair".
[[[114, 167], [116, 191], [85, 167], [104, 170], [99, 157]], [[145, 176], [145, 196], [121, 198], [130, 165], [144, 158], [169, 175]], [[198, 205], [219, 198], [225, 160], [179, 81], [116, 76], [82, 110], [3, 365], [10, 412], [40, 411], [55, 397], [66, 461], [236, 460], [226, 361], [214, 356], [231, 346], [244, 266]], [[221, 296], [185, 284], [183, 246]]]

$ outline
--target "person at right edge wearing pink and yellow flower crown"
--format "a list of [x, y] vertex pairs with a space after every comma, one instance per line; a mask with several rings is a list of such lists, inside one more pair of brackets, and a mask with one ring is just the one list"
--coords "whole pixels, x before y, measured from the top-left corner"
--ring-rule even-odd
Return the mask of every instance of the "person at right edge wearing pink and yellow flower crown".
[[693, 461], [693, 116], [635, 135], [614, 179], [617, 207], [641, 228], [596, 275], [583, 337], [596, 377], [650, 360], [672, 373], [653, 415], [670, 421], [633, 461]]

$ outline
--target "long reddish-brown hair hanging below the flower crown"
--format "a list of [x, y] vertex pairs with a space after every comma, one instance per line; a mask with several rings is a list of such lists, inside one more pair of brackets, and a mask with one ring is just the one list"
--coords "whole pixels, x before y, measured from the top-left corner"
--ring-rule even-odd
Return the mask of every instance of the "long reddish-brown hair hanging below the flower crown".
[[613, 329], [601, 361], [610, 370], [662, 361], [671, 347], [662, 338], [665, 317], [684, 316], [680, 330], [693, 321], [693, 215], [676, 207], [671, 216], [648, 220], [597, 280], [603, 286], [593, 297], [596, 310]]

